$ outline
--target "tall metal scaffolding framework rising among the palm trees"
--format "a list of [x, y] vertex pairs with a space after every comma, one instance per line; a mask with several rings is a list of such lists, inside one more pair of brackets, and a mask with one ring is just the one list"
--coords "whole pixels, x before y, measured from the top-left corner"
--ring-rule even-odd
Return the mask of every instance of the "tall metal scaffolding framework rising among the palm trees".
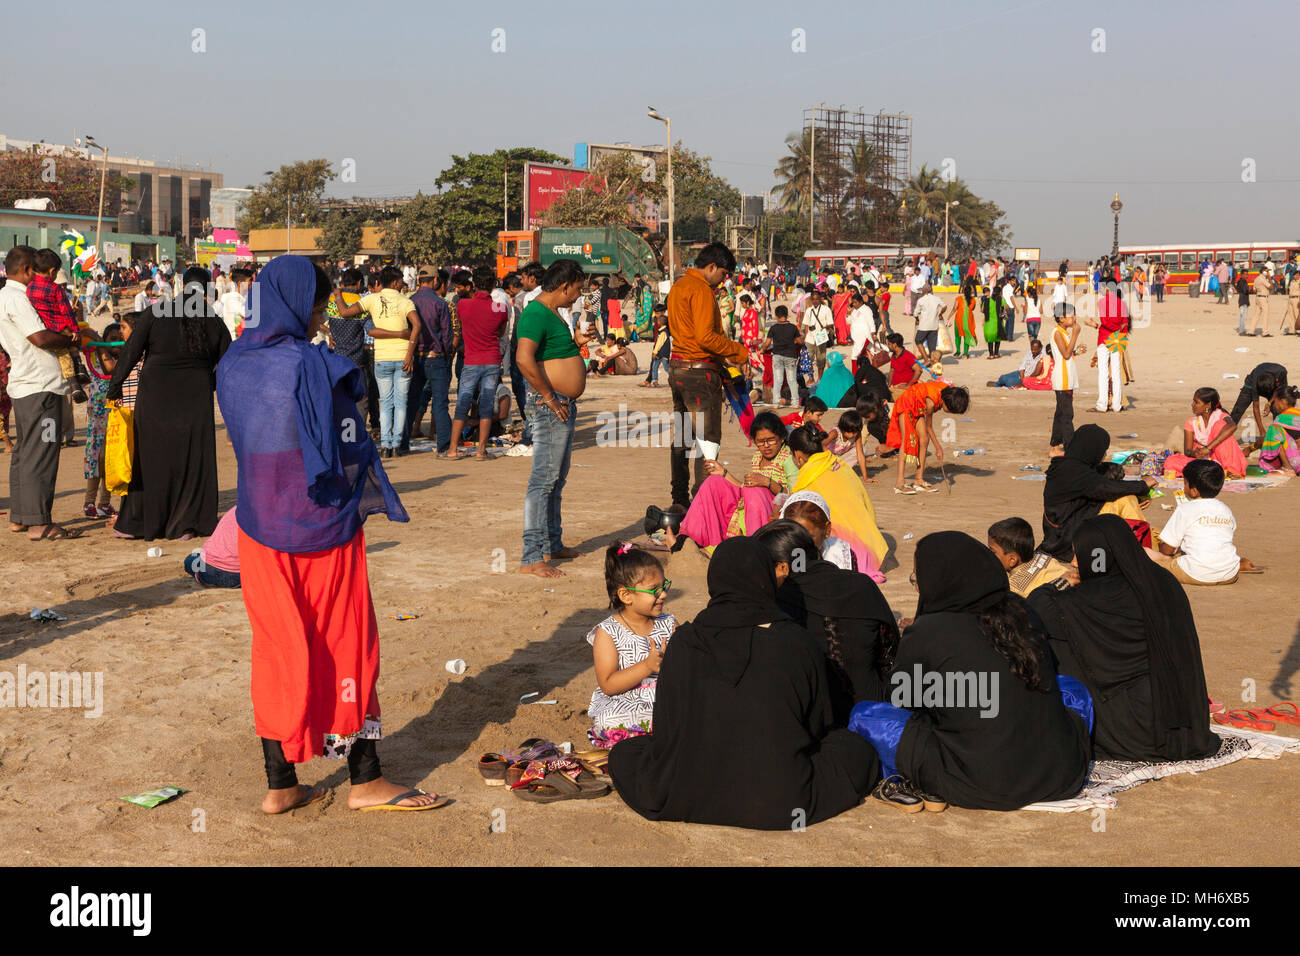
[[[812, 170], [809, 239], [897, 241], [898, 203], [911, 177], [911, 116], [809, 107], [803, 142]], [[864, 147], [872, 157], [867, 168]]]

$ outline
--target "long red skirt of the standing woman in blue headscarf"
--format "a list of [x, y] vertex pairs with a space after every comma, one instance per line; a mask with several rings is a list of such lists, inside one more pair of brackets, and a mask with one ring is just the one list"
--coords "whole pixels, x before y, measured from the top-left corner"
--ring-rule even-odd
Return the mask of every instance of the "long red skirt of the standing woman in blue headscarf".
[[325, 735], [378, 719], [380, 626], [365, 570], [365, 533], [325, 551], [277, 551], [239, 532], [239, 578], [252, 626], [257, 736], [290, 763], [325, 749]]

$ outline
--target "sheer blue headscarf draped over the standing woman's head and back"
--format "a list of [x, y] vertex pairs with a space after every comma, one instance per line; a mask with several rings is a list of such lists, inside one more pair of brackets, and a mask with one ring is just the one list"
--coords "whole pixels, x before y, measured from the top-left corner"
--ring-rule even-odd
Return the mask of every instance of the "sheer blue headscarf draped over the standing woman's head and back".
[[351, 541], [368, 515], [410, 516], [356, 411], [361, 369], [307, 341], [316, 269], [273, 259], [250, 289], [244, 332], [217, 365], [217, 401], [239, 463], [239, 527], [278, 551]]

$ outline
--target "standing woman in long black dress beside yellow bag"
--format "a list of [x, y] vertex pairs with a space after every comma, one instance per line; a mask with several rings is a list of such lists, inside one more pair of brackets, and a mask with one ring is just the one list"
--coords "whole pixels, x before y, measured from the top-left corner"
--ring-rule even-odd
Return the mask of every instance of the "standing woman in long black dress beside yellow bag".
[[[135, 397], [131, 484], [113, 532], [153, 540], [205, 537], [217, 527], [217, 429], [212, 392], [230, 347], [207, 299], [207, 269], [190, 268], [179, 299], [136, 313], [108, 384], [109, 401], [144, 359]], [[248, 401], [256, 401], [254, 395]]]

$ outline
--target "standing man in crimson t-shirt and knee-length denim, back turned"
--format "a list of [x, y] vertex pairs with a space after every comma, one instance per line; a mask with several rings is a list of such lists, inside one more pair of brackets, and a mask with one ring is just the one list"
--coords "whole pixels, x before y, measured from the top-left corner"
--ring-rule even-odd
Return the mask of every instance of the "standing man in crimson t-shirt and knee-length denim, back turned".
[[478, 454], [488, 460], [488, 432], [491, 431], [493, 408], [497, 405], [497, 386], [500, 384], [500, 333], [510, 313], [491, 298], [497, 272], [490, 265], [480, 265], [473, 272], [474, 293], [456, 302], [460, 317], [460, 336], [465, 343], [465, 367], [456, 380], [456, 415], [451, 421], [451, 450], [448, 458], [467, 458], [460, 454], [460, 432], [465, 427], [469, 406], [478, 399]]

